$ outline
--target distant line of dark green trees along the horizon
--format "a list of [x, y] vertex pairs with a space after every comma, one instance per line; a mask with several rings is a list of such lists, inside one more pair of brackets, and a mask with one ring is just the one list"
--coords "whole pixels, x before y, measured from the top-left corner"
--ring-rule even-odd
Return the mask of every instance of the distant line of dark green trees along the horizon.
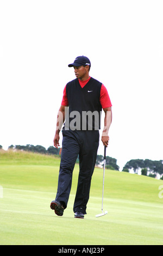
[[[0, 149], [2, 149], [2, 145], [0, 145]], [[50, 154], [50, 155], [60, 155], [61, 148], [55, 148], [53, 146], [50, 146], [48, 149], [45, 147], [42, 147], [41, 145], [10, 145], [8, 149], [18, 149], [18, 150], [24, 150], [24, 151], [30, 151], [33, 153], [40, 153], [40, 154]], [[79, 162], [79, 157], [77, 159], [77, 162]], [[97, 155], [96, 159], [96, 166], [102, 167], [103, 166], [103, 156]], [[113, 157], [106, 156], [106, 162], [105, 162], [106, 169], [112, 169], [112, 170], [119, 170], [120, 167], [117, 165], [117, 160]], [[160, 179], [163, 180], [163, 161], [153, 161], [149, 159], [132, 159], [128, 161], [123, 169], [122, 172], [134, 172], [138, 173], [141, 172], [142, 175], [148, 175], [153, 178], [156, 177], [157, 174], [160, 175]]]

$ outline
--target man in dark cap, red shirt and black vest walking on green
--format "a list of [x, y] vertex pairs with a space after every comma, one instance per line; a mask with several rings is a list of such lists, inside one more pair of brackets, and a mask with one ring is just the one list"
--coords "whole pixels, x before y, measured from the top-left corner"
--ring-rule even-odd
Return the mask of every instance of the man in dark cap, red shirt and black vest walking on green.
[[62, 124], [65, 124], [62, 129], [58, 190], [55, 200], [51, 202], [51, 209], [58, 216], [64, 214], [70, 196], [74, 164], [79, 155], [79, 177], [73, 211], [74, 217], [84, 218], [99, 145], [101, 112], [103, 108], [105, 118], [102, 142], [108, 147], [112, 105], [104, 85], [90, 77], [91, 62], [87, 57], [79, 56], [68, 66], [74, 68], [76, 79], [66, 84], [58, 112], [54, 137], [56, 148], [60, 146], [59, 132]]

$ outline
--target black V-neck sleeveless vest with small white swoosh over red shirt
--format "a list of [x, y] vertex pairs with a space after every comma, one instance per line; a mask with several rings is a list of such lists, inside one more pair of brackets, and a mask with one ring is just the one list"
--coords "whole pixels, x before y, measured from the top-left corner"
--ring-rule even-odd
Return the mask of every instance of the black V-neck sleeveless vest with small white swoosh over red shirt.
[[82, 88], [78, 78], [67, 83], [66, 95], [69, 109], [66, 114], [65, 130], [99, 130], [102, 106], [99, 101], [102, 83], [94, 78]]

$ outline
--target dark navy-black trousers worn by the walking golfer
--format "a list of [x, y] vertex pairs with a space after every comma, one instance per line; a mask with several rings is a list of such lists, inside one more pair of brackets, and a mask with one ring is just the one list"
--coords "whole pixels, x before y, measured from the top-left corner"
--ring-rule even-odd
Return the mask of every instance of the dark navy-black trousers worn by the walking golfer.
[[72, 185], [72, 173], [79, 155], [79, 177], [73, 211], [86, 214], [91, 178], [95, 168], [99, 145], [99, 131], [62, 130], [62, 152], [55, 200], [66, 209]]

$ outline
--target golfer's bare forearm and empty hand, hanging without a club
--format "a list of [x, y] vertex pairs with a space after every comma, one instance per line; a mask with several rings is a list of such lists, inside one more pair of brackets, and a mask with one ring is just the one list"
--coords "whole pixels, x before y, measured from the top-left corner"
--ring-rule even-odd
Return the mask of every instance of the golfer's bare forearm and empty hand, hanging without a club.
[[61, 105], [58, 111], [57, 115], [57, 125], [56, 125], [56, 131], [55, 131], [55, 136], [54, 136], [54, 147], [58, 149], [59, 145], [59, 133], [61, 130], [62, 125], [64, 124], [65, 121], [65, 106]]

